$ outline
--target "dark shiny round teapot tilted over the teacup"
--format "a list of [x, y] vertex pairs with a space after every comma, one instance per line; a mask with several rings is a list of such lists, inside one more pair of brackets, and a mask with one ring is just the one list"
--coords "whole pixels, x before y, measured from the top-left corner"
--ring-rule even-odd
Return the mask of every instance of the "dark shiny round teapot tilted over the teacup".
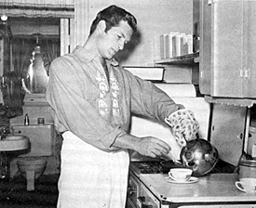
[[196, 138], [187, 142], [181, 150], [181, 162], [183, 167], [193, 170], [193, 176], [208, 174], [218, 162], [218, 150], [209, 141]]

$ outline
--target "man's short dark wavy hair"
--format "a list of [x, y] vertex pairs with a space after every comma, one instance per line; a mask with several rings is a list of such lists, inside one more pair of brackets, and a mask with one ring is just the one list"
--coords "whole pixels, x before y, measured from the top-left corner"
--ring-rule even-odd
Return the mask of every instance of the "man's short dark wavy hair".
[[133, 32], [136, 32], [137, 30], [137, 20], [135, 17], [125, 9], [112, 5], [104, 8], [97, 14], [96, 19], [93, 20], [90, 26], [89, 35], [95, 31], [97, 24], [101, 20], [105, 20], [106, 22], [105, 32], [108, 32], [112, 27], [118, 25], [121, 20], [127, 21]]

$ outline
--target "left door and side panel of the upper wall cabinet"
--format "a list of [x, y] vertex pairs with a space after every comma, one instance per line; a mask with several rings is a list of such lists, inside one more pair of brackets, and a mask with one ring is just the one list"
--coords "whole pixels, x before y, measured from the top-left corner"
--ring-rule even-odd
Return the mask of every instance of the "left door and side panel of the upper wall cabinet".
[[201, 0], [200, 91], [243, 97], [243, 1]]

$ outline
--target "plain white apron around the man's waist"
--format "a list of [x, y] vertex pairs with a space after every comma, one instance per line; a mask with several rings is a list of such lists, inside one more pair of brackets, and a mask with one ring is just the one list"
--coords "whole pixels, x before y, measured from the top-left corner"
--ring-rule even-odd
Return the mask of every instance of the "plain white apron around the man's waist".
[[58, 208], [125, 208], [128, 150], [105, 152], [63, 135]]

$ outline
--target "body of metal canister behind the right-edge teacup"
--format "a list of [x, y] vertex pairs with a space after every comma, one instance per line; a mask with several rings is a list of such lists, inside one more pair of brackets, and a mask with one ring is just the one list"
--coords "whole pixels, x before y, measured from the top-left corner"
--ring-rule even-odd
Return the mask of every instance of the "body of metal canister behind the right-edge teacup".
[[239, 162], [239, 178], [253, 177], [256, 178], [256, 161], [248, 160]]

